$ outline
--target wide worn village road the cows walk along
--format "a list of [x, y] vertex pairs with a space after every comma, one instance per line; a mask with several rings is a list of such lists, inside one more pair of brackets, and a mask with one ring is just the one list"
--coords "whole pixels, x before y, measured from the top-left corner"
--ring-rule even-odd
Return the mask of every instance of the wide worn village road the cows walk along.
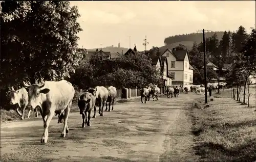
[[54, 117], [47, 144], [40, 143], [41, 118], [2, 124], [1, 161], [196, 161], [185, 108], [198, 97], [165, 96], [146, 104], [131, 100], [92, 118], [86, 128], [74, 112], [66, 138], [60, 138], [63, 125]]

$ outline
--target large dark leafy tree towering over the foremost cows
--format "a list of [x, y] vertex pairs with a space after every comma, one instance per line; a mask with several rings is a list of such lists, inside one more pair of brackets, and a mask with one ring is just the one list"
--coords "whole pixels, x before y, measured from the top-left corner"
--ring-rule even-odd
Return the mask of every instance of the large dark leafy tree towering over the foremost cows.
[[[69, 77], [82, 57], [77, 7], [67, 1], [1, 3], [1, 85]], [[17, 30], [18, 28], [18, 30]], [[7, 77], [8, 76], [8, 77]]]

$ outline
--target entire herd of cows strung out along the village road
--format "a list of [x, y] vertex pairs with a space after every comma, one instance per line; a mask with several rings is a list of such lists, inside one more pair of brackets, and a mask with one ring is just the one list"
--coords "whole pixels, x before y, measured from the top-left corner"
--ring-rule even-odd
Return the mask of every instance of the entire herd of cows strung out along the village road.
[[[70, 109], [72, 106], [72, 101], [75, 95], [75, 89], [70, 82], [67, 80], [60, 80], [57, 82], [46, 81], [42, 84], [28, 85], [23, 82], [24, 88], [14, 90], [12, 87], [10, 92], [10, 104], [18, 104], [15, 111], [24, 119], [25, 109], [29, 109], [28, 118], [32, 110], [36, 112], [37, 110], [42, 116], [44, 121], [44, 132], [42, 134], [41, 143], [47, 143], [48, 141], [48, 127], [53, 118], [53, 116], [58, 115], [58, 123], [63, 123], [63, 129], [60, 137], [66, 137], [66, 133], [69, 132], [68, 127], [68, 117]], [[220, 88], [224, 89], [225, 83], [221, 84]], [[216, 84], [207, 84], [207, 88], [212, 88], [215, 90]], [[166, 90], [166, 95], [168, 98], [177, 97], [180, 91], [183, 93], [188, 93], [188, 91], [201, 93], [204, 92], [203, 85], [185, 85], [168, 87]], [[150, 84], [146, 88], [140, 90], [141, 102], [146, 103], [150, 100], [152, 96], [153, 101], [158, 101], [158, 96], [160, 94], [160, 88], [157, 85]], [[90, 126], [90, 119], [92, 110], [94, 110], [94, 115], [92, 118], [96, 118], [96, 103], [99, 104], [99, 115], [103, 116], [104, 106], [106, 106], [105, 111], [114, 110], [114, 100], [117, 95], [117, 90], [115, 87], [110, 86], [108, 88], [103, 86], [96, 86], [95, 88], [90, 88], [86, 92], [82, 93], [78, 98], [78, 107], [80, 114], [82, 115], [82, 127]], [[109, 102], [109, 107], [108, 107]], [[22, 113], [19, 112], [19, 107]]]

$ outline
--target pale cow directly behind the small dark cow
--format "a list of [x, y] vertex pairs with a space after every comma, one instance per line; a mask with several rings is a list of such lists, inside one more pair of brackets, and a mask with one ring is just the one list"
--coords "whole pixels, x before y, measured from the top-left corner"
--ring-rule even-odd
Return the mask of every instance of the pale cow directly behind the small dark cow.
[[[103, 86], [96, 86], [93, 89], [89, 89], [88, 92], [91, 92], [94, 94], [96, 101], [98, 101], [99, 103], [99, 115], [103, 117], [104, 116], [103, 109], [104, 109], [104, 105], [106, 105], [106, 100], [108, 100], [108, 97], [109, 97], [109, 90]], [[96, 118], [95, 112], [94, 112], [93, 118]]]

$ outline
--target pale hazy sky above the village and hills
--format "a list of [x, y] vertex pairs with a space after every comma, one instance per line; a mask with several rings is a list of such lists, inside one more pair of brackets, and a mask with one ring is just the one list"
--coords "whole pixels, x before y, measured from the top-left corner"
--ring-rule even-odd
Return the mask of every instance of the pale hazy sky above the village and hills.
[[79, 47], [118, 46], [144, 50], [145, 35], [152, 46], [168, 36], [198, 30], [250, 32], [255, 26], [255, 1], [72, 1], [80, 13]]

